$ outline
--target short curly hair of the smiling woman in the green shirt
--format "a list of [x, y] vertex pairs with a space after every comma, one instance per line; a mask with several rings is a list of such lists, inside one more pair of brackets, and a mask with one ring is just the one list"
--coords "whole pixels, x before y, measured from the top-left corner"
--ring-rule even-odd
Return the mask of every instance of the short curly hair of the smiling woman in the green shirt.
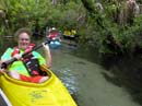
[[15, 32], [15, 34], [14, 34], [14, 40], [17, 42], [19, 36], [20, 36], [22, 33], [28, 34], [29, 37], [32, 36], [31, 30], [29, 30], [29, 28], [26, 28], [26, 27], [23, 27], [23, 28], [19, 28], [19, 30]]

